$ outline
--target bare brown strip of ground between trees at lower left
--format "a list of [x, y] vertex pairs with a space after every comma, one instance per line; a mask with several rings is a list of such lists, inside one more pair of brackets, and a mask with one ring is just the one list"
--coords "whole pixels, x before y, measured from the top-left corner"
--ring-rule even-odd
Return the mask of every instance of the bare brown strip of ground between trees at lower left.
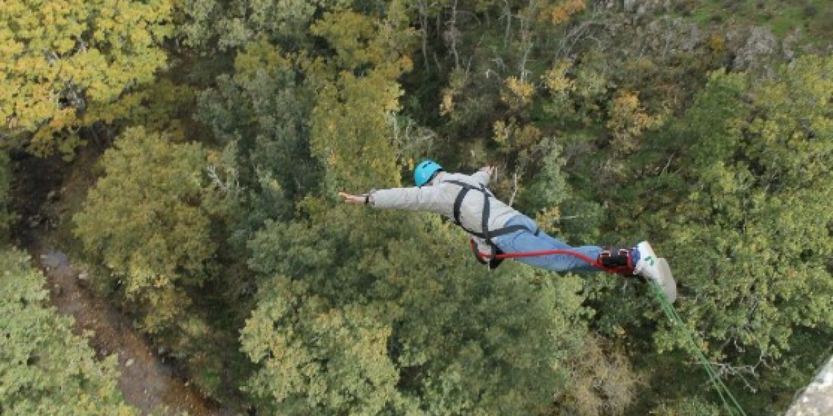
[[177, 376], [172, 363], [154, 354], [152, 345], [133, 328], [131, 320], [92, 290], [87, 284], [92, 276], [74, 270], [72, 261], [62, 252], [59, 245], [66, 236], [60, 234], [67, 229], [62, 224], [67, 220], [62, 212], [67, 205], [62, 201], [81, 201], [94, 181], [92, 166], [97, 156], [87, 151], [71, 164], [18, 157], [14, 161], [12, 194], [18, 197], [14, 210], [20, 220], [12, 241], [28, 250], [32, 262], [47, 275], [52, 305], [75, 318], [74, 332], [92, 334], [90, 345], [99, 358], [117, 354], [121, 373], [118, 387], [128, 404], [142, 414], [237, 414], [222, 409]]

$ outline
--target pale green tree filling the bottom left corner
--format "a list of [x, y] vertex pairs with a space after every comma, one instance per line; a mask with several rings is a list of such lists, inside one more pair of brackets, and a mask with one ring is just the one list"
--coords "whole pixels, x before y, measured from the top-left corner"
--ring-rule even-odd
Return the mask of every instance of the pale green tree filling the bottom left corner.
[[117, 389], [116, 356], [102, 361], [72, 318], [46, 307], [46, 279], [27, 255], [0, 251], [0, 413], [137, 415]]

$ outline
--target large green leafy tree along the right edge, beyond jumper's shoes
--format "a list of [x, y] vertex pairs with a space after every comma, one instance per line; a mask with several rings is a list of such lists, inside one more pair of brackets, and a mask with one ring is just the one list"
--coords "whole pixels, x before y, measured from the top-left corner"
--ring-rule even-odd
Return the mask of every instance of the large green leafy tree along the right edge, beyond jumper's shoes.
[[[790, 328], [833, 321], [825, 260], [833, 245], [818, 238], [833, 224], [824, 208], [833, 196], [833, 84], [822, 75], [831, 68], [830, 59], [803, 58], [781, 80], [756, 85], [748, 107], [736, 101], [740, 119], [708, 120], [711, 131], [726, 130], [686, 135], [692, 146], [706, 138], [716, 145], [692, 155], [692, 192], [668, 224], [692, 290], [711, 300], [690, 318], [708, 322], [716, 342], [765, 359], [790, 349]], [[691, 245], [701, 250], [683, 250]]]

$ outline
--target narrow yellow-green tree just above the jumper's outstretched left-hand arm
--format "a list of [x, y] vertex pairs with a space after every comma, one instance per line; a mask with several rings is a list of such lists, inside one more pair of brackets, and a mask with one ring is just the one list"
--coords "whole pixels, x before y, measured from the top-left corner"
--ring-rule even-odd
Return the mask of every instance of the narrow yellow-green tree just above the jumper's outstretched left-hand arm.
[[[327, 169], [330, 191], [398, 179], [389, 116], [400, 109], [397, 77], [411, 69], [411, 59], [409, 32], [397, 24], [342, 11], [325, 13], [311, 27], [335, 51], [324, 62], [304, 63], [317, 89], [310, 146]], [[356, 169], [357, 161], [369, 169]]]

